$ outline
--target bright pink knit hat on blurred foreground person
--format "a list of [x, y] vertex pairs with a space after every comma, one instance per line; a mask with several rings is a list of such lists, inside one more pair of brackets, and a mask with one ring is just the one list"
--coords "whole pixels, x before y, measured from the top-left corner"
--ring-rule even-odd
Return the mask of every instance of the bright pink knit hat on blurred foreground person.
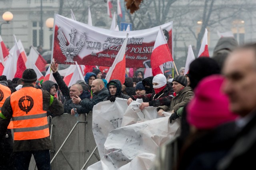
[[212, 129], [236, 119], [237, 115], [228, 109], [228, 96], [221, 91], [223, 81], [223, 76], [212, 75], [199, 82], [195, 96], [187, 107], [187, 120], [190, 125], [197, 129]]

